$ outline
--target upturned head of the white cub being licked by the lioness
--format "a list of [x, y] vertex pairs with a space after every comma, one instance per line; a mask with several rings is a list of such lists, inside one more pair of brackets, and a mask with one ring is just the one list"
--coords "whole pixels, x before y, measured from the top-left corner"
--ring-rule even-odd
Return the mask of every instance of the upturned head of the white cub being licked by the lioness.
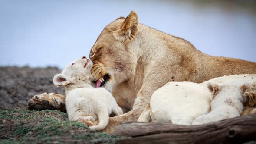
[[90, 84], [92, 65], [92, 61], [83, 56], [67, 64], [60, 74], [54, 76], [53, 83], [57, 87], [76, 84], [79, 81]]

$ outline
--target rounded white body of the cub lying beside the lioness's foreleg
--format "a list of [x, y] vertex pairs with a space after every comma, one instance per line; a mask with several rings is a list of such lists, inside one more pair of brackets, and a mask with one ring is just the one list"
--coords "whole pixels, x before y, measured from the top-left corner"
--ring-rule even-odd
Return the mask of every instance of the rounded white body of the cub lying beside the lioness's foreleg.
[[[209, 98], [208, 89], [200, 84], [169, 82], [152, 94], [151, 119], [158, 122], [190, 125], [197, 116], [209, 111]], [[144, 122], [141, 117], [138, 121]]]

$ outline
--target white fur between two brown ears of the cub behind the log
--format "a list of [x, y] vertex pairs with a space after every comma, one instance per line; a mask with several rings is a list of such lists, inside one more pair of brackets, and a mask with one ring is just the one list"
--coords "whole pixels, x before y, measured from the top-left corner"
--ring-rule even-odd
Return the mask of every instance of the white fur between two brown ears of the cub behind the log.
[[218, 84], [218, 87], [220, 89], [218, 94], [214, 98], [211, 95], [211, 111], [197, 117], [192, 125], [200, 125], [240, 116], [243, 111], [243, 98], [240, 92], [240, 86], [232, 83], [222, 83]]

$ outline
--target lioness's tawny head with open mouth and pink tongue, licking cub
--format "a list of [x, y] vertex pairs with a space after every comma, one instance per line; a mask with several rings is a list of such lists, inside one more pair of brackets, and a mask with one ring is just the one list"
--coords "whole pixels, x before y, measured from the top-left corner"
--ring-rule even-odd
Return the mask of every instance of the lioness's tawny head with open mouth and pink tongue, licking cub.
[[91, 74], [98, 79], [98, 86], [112, 91], [115, 85], [131, 77], [133, 63], [127, 46], [134, 41], [137, 31], [138, 16], [132, 11], [126, 18], [107, 25], [98, 36], [90, 52], [94, 63]]

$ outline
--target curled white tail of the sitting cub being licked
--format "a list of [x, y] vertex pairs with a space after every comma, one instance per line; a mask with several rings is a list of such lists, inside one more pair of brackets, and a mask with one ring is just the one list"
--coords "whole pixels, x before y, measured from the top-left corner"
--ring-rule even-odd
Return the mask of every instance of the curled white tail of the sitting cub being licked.
[[107, 125], [108, 125], [108, 110], [107, 109], [102, 109], [99, 110], [98, 113], [98, 125], [92, 125], [90, 126], [91, 129], [95, 129], [96, 131], [102, 131]]

